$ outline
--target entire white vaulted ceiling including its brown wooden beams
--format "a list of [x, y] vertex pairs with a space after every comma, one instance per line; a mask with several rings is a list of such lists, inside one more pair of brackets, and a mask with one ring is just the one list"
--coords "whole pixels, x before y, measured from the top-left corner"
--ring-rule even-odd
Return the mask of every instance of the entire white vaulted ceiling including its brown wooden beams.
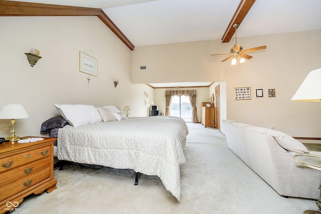
[[[8, 2], [0, 0], [0, 16], [97, 16], [131, 50], [135, 46], [216, 39], [229, 42], [235, 21], [241, 23], [238, 37], [321, 29], [320, 0], [12, 0], [16, 6], [10, 10]], [[62, 7], [46, 5], [30, 10], [26, 3]], [[202, 87], [211, 82], [186, 84]], [[168, 83], [151, 87], [177, 85], [187, 86]]]

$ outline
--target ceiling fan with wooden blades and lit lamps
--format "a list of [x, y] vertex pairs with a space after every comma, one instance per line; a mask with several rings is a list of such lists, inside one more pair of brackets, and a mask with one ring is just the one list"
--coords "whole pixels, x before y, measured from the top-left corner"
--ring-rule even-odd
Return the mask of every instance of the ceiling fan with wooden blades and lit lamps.
[[266, 49], [266, 46], [259, 46], [259, 47], [255, 47], [255, 48], [250, 48], [250, 49], [245, 49], [243, 50], [243, 47], [239, 44], [237, 44], [237, 36], [236, 36], [236, 28], [239, 26], [239, 24], [234, 24], [233, 27], [235, 28], [235, 45], [233, 48], [231, 48], [230, 52], [231, 53], [226, 53], [226, 54], [212, 54], [211, 56], [223, 56], [223, 55], [230, 55], [227, 58], [225, 58], [224, 60], [222, 60], [221, 62], [224, 62], [228, 59], [230, 59], [231, 57], [233, 57], [232, 59], [232, 63], [231, 65], [236, 65], [236, 62], [240, 59], [240, 63], [245, 63], [245, 59], [251, 59], [252, 56], [247, 55], [245, 53], [248, 52], [252, 52], [252, 51], [259, 51], [259, 50], [263, 50]]

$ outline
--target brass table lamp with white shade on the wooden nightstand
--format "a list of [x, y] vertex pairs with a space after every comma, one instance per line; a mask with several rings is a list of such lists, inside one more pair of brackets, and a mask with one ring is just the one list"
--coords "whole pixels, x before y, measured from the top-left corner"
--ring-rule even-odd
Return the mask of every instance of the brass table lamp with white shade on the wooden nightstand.
[[23, 119], [28, 117], [29, 115], [27, 114], [26, 110], [20, 104], [8, 104], [1, 109], [0, 119], [11, 119], [11, 123], [9, 126], [1, 127], [1, 131], [11, 130], [10, 137], [6, 138], [7, 141], [14, 142], [21, 139], [21, 137], [16, 136], [16, 119]]

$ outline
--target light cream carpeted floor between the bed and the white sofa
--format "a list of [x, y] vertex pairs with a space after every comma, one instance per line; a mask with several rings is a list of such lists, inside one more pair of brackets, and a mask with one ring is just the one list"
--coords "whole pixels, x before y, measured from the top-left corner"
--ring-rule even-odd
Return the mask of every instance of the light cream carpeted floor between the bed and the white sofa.
[[[303, 213], [315, 201], [285, 198], [243, 163], [217, 129], [188, 123], [181, 165], [181, 201], [157, 176], [131, 170], [81, 167], [54, 170], [57, 189], [32, 195], [14, 213]], [[317, 186], [316, 186], [317, 188]]]

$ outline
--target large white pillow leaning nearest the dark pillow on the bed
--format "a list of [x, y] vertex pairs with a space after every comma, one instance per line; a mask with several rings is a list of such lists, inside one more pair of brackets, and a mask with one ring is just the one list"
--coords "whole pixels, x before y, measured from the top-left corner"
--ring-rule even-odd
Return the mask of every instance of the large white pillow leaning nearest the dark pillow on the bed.
[[99, 112], [91, 105], [55, 104], [60, 115], [74, 127], [101, 121]]

